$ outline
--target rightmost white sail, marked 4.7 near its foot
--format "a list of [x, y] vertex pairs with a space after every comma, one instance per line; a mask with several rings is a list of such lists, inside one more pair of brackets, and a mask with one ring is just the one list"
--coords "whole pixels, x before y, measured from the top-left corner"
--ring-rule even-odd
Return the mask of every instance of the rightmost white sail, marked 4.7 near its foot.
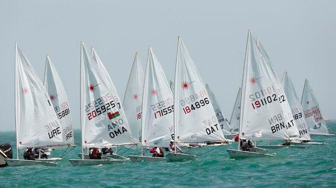
[[301, 105], [309, 134], [329, 134], [321, 113], [321, 107], [307, 79], [304, 82]]

